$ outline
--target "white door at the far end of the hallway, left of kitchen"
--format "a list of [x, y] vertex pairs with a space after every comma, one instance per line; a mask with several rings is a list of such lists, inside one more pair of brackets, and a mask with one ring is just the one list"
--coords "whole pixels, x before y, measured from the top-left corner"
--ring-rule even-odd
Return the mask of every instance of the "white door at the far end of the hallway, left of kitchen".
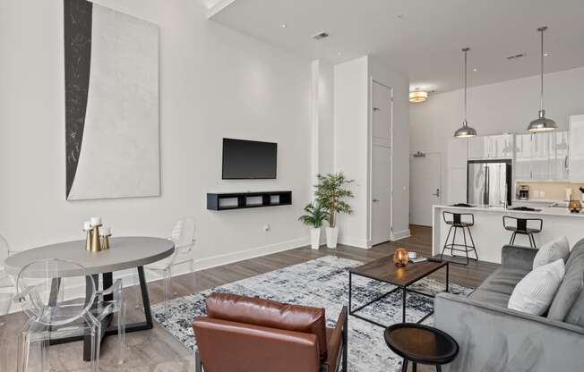
[[411, 224], [432, 226], [432, 206], [442, 204], [442, 155], [411, 157]]

